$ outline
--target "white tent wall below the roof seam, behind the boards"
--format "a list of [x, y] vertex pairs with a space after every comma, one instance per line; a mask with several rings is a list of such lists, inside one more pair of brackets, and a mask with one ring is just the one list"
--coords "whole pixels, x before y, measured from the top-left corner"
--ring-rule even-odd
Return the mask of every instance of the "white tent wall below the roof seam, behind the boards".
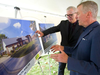
[[[66, 11], [66, 10], [65, 10]], [[9, 6], [0, 7], [0, 16], [15, 18], [15, 9]], [[46, 16], [46, 18], [44, 17]], [[66, 20], [63, 16], [46, 14], [41, 12], [36, 12], [32, 10], [23, 10], [17, 11], [17, 19], [27, 19], [27, 20], [36, 20], [38, 23], [53, 23], [55, 26], [60, 23], [61, 20]], [[57, 33], [58, 44], [61, 41], [61, 35]]]

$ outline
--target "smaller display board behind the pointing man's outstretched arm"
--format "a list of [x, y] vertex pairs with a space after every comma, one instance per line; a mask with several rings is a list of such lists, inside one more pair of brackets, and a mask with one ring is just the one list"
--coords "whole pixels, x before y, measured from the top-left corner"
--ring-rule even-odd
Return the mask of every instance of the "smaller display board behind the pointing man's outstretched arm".
[[[51, 24], [51, 23], [39, 23], [40, 31], [44, 31], [44, 30], [46, 30], [50, 27], [53, 27], [53, 26], [54, 26], [54, 24]], [[42, 44], [43, 44], [45, 53], [50, 50], [50, 47], [52, 45], [57, 43], [57, 37], [56, 37], [55, 33], [48, 34], [48, 35], [41, 37], [41, 38], [42, 38]]]

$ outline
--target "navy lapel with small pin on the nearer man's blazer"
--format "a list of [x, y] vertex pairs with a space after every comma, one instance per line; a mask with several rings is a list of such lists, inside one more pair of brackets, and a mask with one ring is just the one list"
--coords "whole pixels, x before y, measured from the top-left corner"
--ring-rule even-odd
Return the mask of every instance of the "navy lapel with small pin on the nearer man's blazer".
[[[96, 24], [97, 23], [97, 24]], [[97, 27], [99, 25], [98, 22], [95, 22], [95, 24], [93, 23], [93, 25], [89, 26], [82, 34], [81, 36], [79, 37], [78, 39], [78, 42], [76, 43], [76, 45], [74, 46], [74, 48], [76, 48], [78, 46], [78, 44], [80, 43], [81, 40], [84, 40], [84, 37], [86, 35], [88, 35], [92, 30], [93, 28]]]

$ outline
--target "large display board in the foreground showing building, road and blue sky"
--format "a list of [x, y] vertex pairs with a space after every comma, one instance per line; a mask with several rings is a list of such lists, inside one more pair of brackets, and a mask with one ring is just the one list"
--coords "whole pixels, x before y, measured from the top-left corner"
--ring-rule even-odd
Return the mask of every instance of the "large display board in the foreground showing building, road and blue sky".
[[25, 75], [42, 54], [35, 21], [0, 17], [0, 75]]

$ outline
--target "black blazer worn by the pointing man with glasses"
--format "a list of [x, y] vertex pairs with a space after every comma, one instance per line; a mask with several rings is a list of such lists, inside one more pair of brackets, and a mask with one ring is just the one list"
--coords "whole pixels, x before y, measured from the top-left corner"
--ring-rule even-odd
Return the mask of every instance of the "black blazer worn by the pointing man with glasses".
[[79, 26], [78, 21], [77, 21], [76, 27], [73, 31], [73, 34], [68, 38], [69, 25], [70, 25], [70, 22], [68, 20], [63, 20], [60, 22], [59, 25], [51, 27], [51, 28], [43, 31], [44, 36], [47, 34], [51, 34], [51, 33], [60, 31], [60, 33], [61, 33], [61, 45], [74, 46], [77, 43], [77, 40], [78, 40], [80, 34], [83, 32], [83, 27]]

